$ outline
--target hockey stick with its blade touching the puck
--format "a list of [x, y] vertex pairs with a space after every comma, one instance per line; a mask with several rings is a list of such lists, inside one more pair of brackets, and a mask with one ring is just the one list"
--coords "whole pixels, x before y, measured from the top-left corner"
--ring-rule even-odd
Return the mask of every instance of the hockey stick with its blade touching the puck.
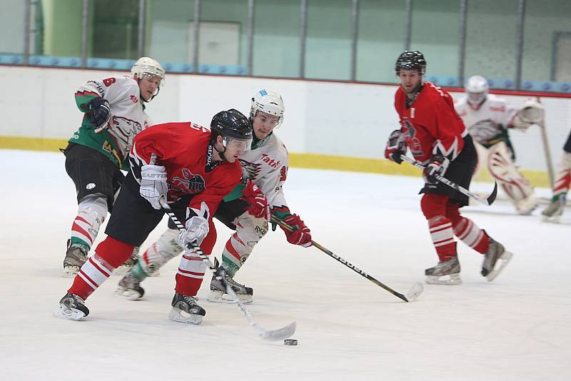
[[[178, 220], [178, 218], [176, 218], [176, 215], [174, 215], [173, 210], [166, 203], [164, 198], [161, 198], [159, 202], [161, 203], [161, 206], [163, 207], [165, 213], [168, 214], [168, 217], [171, 218], [171, 220], [176, 225], [178, 230], [184, 230], [183, 224], [181, 223], [181, 221]], [[286, 325], [285, 327], [280, 328], [278, 330], [265, 330], [260, 325], [258, 325], [258, 323], [256, 323], [256, 320], [254, 320], [254, 318], [252, 317], [250, 311], [248, 311], [248, 309], [246, 308], [245, 305], [243, 305], [243, 303], [240, 301], [236, 293], [234, 293], [234, 290], [232, 290], [232, 286], [226, 283], [224, 277], [221, 276], [220, 273], [218, 272], [218, 269], [214, 267], [211, 260], [208, 258], [208, 255], [203, 253], [201, 247], [198, 245], [188, 244], [187, 250], [192, 250], [193, 252], [197, 253], [198, 256], [201, 258], [201, 260], [203, 261], [203, 263], [206, 263], [206, 265], [212, 271], [216, 279], [219, 280], [224, 285], [224, 287], [226, 288], [226, 293], [230, 295], [233, 302], [236, 303], [236, 305], [238, 305], [238, 308], [240, 308], [243, 315], [246, 316], [246, 319], [248, 319], [248, 322], [250, 322], [251, 327], [253, 327], [258, 336], [260, 336], [263, 340], [278, 341], [278, 340], [287, 339], [288, 337], [293, 335], [293, 333], [295, 332], [295, 322], [292, 322], [290, 325]]]

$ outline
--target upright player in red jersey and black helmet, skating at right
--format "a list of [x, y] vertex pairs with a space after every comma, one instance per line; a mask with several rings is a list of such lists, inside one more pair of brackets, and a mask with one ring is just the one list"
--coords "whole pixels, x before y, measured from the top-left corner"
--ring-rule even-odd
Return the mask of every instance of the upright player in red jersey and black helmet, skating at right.
[[420, 201], [428, 220], [439, 262], [425, 270], [426, 282], [455, 285], [460, 279], [460, 262], [454, 235], [484, 255], [482, 275], [493, 280], [512, 257], [501, 243], [460, 215], [468, 205], [468, 196], [439, 183], [436, 175], [445, 176], [468, 188], [477, 156], [462, 119], [455, 112], [452, 97], [439, 86], [424, 80], [426, 61], [420, 51], [404, 51], [395, 64], [400, 87], [395, 94], [395, 108], [400, 130], [390, 134], [385, 158], [401, 163], [408, 149], [416, 161], [425, 165], [424, 193]]

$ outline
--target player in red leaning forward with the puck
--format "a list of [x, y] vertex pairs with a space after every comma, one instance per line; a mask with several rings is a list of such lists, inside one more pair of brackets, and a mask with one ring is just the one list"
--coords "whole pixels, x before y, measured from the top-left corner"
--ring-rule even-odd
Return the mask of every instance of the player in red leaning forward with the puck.
[[[251, 146], [248, 118], [231, 109], [217, 113], [211, 130], [196, 123], [165, 123], [135, 137], [125, 178], [105, 233], [107, 238], [81, 266], [55, 315], [81, 320], [89, 314], [84, 300], [141, 245], [163, 218], [166, 200], [178, 220], [181, 246], [201, 245], [209, 255], [216, 241], [212, 212], [239, 183], [238, 156]], [[202, 283], [206, 264], [187, 250], [176, 274], [171, 320], [200, 324], [206, 312], [193, 295]]]

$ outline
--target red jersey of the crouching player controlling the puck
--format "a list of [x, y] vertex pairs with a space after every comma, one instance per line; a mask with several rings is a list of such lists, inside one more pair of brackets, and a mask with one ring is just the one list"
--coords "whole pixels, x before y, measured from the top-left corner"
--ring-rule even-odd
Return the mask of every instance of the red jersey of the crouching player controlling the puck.
[[141, 166], [149, 164], [154, 153], [156, 165], [166, 168], [168, 203], [196, 194], [188, 206], [200, 210], [205, 202], [212, 216], [222, 198], [240, 182], [242, 168], [239, 161], [213, 162], [210, 138], [210, 129], [196, 123], [151, 126], [135, 136], [129, 156], [131, 171], [140, 181]]

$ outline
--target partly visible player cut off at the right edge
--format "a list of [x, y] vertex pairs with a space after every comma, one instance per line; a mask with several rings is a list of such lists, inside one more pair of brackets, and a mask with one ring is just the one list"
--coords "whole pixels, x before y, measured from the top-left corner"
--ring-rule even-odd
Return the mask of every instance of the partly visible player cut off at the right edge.
[[563, 155], [557, 169], [551, 203], [541, 212], [543, 220], [555, 223], [560, 221], [561, 215], [565, 211], [565, 200], [571, 184], [571, 133], [567, 136], [567, 141], [563, 146]]

